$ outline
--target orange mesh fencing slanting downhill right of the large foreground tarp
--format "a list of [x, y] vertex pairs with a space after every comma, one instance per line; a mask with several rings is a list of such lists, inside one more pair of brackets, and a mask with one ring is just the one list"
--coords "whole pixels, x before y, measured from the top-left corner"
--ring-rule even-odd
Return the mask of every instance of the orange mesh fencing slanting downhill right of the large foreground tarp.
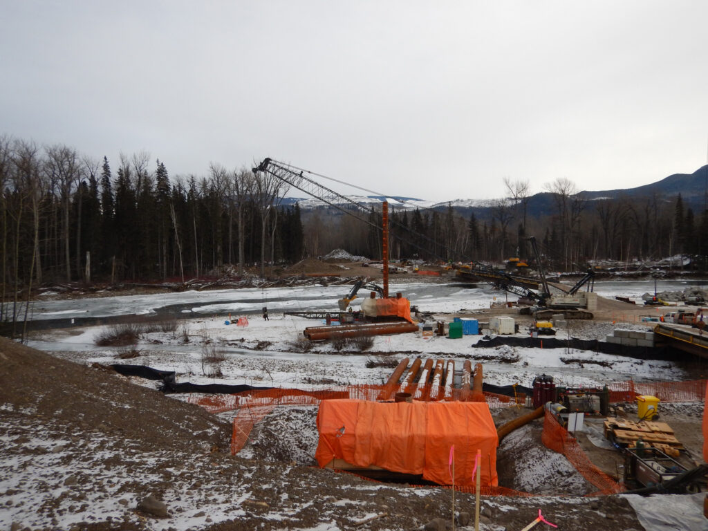
[[622, 491], [622, 486], [590, 461], [588, 455], [578, 445], [578, 441], [556, 421], [552, 413], [546, 411], [541, 440], [545, 447], [566, 456], [573, 467], [599, 490], [593, 494], [613, 494]]

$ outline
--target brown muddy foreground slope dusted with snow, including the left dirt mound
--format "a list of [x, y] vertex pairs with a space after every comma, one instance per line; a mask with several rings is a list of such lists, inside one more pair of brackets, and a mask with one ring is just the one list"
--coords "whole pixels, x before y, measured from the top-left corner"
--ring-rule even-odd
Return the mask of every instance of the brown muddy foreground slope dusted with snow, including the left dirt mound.
[[[309, 467], [270, 445], [232, 457], [229, 424], [198, 406], [4, 338], [0, 358], [0, 518], [13, 530], [414, 530], [450, 516], [448, 489]], [[271, 440], [297, 438], [282, 429]], [[472, 495], [456, 499], [473, 512]], [[641, 530], [617, 496], [485, 498], [482, 528], [520, 529], [538, 508], [564, 529]]]

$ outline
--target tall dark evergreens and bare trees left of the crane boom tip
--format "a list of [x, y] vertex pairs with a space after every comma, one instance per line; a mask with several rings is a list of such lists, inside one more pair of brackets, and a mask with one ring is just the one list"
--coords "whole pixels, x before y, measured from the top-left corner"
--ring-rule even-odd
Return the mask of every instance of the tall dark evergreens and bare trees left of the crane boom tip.
[[[225, 264], [302, 258], [298, 205], [287, 185], [211, 164], [205, 177], [170, 178], [146, 153], [81, 156], [0, 137], [0, 321], [42, 282], [176, 279], [216, 275]], [[25, 306], [26, 309], [26, 306]]]

